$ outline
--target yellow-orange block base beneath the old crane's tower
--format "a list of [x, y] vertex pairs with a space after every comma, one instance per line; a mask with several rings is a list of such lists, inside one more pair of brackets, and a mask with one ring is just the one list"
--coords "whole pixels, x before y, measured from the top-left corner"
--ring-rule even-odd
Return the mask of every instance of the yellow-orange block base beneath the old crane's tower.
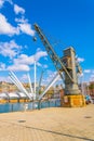
[[62, 106], [64, 107], [82, 107], [85, 106], [85, 99], [82, 94], [64, 95], [62, 99]]

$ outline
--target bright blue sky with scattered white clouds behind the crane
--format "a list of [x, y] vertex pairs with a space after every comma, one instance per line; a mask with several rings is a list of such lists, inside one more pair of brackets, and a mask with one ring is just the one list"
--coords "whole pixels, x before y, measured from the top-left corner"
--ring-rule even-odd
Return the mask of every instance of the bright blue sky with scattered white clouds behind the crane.
[[[0, 81], [9, 80], [9, 70], [25, 81], [29, 72], [33, 81], [42, 69], [43, 82], [56, 72], [37, 36], [38, 23], [59, 56], [69, 46], [76, 49], [84, 81], [94, 80], [94, 0], [0, 0]], [[58, 43], [56, 43], [58, 42]]]

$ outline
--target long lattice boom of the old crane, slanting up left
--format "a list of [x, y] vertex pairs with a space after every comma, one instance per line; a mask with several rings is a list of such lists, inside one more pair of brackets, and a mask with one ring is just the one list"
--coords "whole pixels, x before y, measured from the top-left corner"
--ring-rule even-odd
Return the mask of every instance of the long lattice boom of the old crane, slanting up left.
[[63, 62], [61, 61], [61, 59], [55, 53], [54, 49], [52, 48], [49, 40], [46, 39], [44, 34], [42, 33], [41, 28], [37, 24], [35, 24], [33, 26], [35, 26], [35, 29], [36, 29], [37, 34], [39, 35], [43, 46], [45, 47], [48, 54], [50, 55], [51, 60], [53, 61], [57, 72], [59, 73], [61, 77], [63, 78], [62, 72], [64, 70], [68, 75], [71, 82], [73, 82], [73, 79], [71, 78], [70, 74], [66, 69], [66, 67], [63, 64]]

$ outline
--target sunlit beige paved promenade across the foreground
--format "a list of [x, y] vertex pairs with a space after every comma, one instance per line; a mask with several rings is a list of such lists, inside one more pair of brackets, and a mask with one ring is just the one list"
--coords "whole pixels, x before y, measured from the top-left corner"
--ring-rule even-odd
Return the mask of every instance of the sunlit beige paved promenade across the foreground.
[[94, 104], [0, 114], [0, 141], [94, 141]]

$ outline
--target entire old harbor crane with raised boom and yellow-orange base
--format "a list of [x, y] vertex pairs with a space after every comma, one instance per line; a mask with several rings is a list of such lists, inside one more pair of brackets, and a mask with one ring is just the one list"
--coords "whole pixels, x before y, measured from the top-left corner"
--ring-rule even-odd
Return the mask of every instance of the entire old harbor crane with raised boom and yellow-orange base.
[[81, 73], [81, 67], [76, 62], [75, 49], [72, 47], [65, 49], [64, 56], [59, 59], [46, 39], [45, 35], [37, 24], [35, 24], [35, 29], [39, 35], [43, 46], [45, 47], [45, 50], [57, 72], [59, 73], [62, 79], [62, 73], [64, 72], [65, 74], [65, 95], [63, 98], [62, 104], [64, 106], [83, 106], [84, 98], [78, 87], [78, 73]]

